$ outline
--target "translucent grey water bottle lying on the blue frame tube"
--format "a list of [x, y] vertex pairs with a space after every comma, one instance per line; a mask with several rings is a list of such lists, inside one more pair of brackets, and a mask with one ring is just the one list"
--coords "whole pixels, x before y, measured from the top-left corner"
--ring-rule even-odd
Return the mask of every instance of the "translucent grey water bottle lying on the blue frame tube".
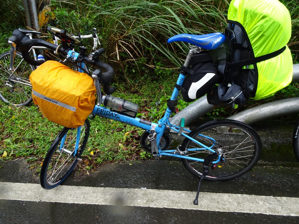
[[124, 113], [131, 117], [136, 117], [138, 111], [137, 104], [111, 95], [103, 97], [103, 104], [104, 106], [109, 107], [114, 111]]

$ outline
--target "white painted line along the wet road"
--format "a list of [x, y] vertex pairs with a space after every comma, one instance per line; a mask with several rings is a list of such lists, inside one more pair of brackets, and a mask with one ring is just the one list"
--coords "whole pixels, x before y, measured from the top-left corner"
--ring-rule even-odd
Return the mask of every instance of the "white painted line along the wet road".
[[195, 195], [196, 192], [190, 191], [77, 186], [58, 186], [45, 190], [39, 184], [0, 182], [0, 199], [4, 200], [299, 216], [299, 198], [201, 192], [199, 204], [193, 205]]

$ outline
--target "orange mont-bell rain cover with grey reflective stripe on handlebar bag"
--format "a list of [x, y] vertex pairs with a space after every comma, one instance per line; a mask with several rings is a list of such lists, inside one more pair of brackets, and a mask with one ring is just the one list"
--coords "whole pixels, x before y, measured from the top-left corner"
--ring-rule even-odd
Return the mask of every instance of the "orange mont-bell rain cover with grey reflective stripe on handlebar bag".
[[55, 61], [46, 61], [30, 75], [32, 98], [42, 114], [57, 124], [77, 128], [95, 105], [93, 79]]

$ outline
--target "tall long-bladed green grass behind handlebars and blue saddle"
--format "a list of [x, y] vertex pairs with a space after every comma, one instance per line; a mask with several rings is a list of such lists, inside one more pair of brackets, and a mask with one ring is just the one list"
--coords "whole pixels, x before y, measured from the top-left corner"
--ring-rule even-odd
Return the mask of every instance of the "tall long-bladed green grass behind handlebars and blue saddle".
[[162, 61], [173, 67], [181, 66], [187, 47], [167, 44], [167, 39], [179, 33], [222, 31], [228, 2], [57, 0], [52, 1], [52, 7], [57, 26], [72, 32], [97, 27], [107, 60], [122, 68], [135, 65], [138, 59], [149, 66]]

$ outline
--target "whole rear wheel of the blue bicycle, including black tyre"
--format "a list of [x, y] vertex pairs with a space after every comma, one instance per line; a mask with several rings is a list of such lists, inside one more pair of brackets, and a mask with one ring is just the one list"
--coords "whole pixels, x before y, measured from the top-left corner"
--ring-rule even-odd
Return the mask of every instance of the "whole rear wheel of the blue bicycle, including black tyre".
[[[215, 164], [214, 170], [205, 179], [228, 180], [239, 177], [248, 172], [260, 158], [262, 143], [260, 137], [249, 125], [234, 120], [216, 120], [205, 123], [189, 134], [190, 137], [207, 145], [223, 155], [223, 160]], [[212, 140], [216, 143], [213, 144]], [[200, 151], [191, 151], [191, 148], [200, 148]], [[181, 150], [189, 149], [188, 156], [204, 159], [212, 153], [192, 140], [185, 138]], [[218, 159], [218, 157], [217, 157]], [[189, 159], [182, 162], [192, 174], [201, 177], [203, 163]]]

